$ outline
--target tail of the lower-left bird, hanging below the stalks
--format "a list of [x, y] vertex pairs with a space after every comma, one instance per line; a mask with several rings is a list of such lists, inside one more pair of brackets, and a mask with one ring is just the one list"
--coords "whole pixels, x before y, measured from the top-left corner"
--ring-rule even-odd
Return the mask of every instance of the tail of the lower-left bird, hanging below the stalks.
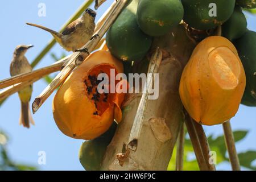
[[30, 111], [29, 102], [21, 102], [20, 119], [19, 124], [24, 127], [30, 128], [30, 123], [35, 125]]

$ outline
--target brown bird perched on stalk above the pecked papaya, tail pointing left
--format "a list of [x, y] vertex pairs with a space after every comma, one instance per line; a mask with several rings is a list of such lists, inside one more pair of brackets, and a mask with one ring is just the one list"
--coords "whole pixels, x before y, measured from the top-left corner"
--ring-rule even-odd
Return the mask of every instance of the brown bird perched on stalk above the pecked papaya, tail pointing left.
[[27, 23], [30, 26], [41, 28], [50, 32], [57, 43], [67, 51], [80, 51], [79, 48], [84, 46], [90, 38], [92, 38], [95, 25], [96, 12], [92, 9], [86, 9], [81, 18], [76, 19], [69, 24], [62, 33], [56, 32], [49, 28], [40, 26], [38, 24]]

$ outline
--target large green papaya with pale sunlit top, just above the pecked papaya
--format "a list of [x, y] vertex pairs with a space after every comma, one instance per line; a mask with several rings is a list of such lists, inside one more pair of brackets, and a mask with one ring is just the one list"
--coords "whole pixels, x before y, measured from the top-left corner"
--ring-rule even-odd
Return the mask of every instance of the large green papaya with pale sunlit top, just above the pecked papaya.
[[131, 1], [106, 34], [109, 51], [123, 61], [139, 61], [151, 47], [152, 38], [144, 34], [136, 19], [138, 0]]

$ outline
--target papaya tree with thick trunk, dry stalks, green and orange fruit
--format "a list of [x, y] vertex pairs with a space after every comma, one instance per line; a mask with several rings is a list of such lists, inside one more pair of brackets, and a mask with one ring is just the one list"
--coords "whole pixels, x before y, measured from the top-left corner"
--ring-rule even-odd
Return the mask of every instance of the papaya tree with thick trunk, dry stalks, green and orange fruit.
[[[256, 32], [247, 30], [245, 8], [253, 12], [255, 1], [114, 1], [84, 51], [51, 66], [61, 72], [46, 78], [49, 86], [33, 111], [60, 86], [53, 116], [63, 134], [85, 140], [79, 159], [86, 170], [213, 171], [225, 161], [233, 170], [255, 169], [255, 151], [236, 151], [235, 142], [247, 131], [233, 132], [230, 124], [240, 104], [256, 103]], [[113, 84], [128, 93], [98, 90], [97, 76], [111, 76], [111, 69], [122, 78], [107, 81], [102, 90]], [[28, 78], [20, 77], [27, 79], [22, 87]], [[130, 78], [138, 78], [139, 92]], [[202, 125], [222, 125], [224, 135], [207, 138]], [[191, 152], [195, 160], [187, 159]]]

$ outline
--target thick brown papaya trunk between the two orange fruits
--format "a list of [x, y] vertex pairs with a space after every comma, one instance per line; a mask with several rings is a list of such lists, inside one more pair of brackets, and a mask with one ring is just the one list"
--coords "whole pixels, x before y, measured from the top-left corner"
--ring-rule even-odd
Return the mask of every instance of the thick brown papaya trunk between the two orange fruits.
[[[184, 121], [179, 98], [179, 81], [195, 44], [180, 25], [170, 34], [156, 38], [152, 50], [159, 47], [163, 60], [159, 67], [159, 98], [148, 100], [137, 149], [126, 151], [141, 94], [129, 94], [123, 106], [123, 119], [109, 144], [102, 170], [166, 170], [180, 127]], [[124, 145], [125, 144], [125, 145]], [[123, 160], [117, 154], [123, 153]], [[126, 155], [127, 154], [127, 155]], [[120, 155], [119, 155], [120, 156]]]

